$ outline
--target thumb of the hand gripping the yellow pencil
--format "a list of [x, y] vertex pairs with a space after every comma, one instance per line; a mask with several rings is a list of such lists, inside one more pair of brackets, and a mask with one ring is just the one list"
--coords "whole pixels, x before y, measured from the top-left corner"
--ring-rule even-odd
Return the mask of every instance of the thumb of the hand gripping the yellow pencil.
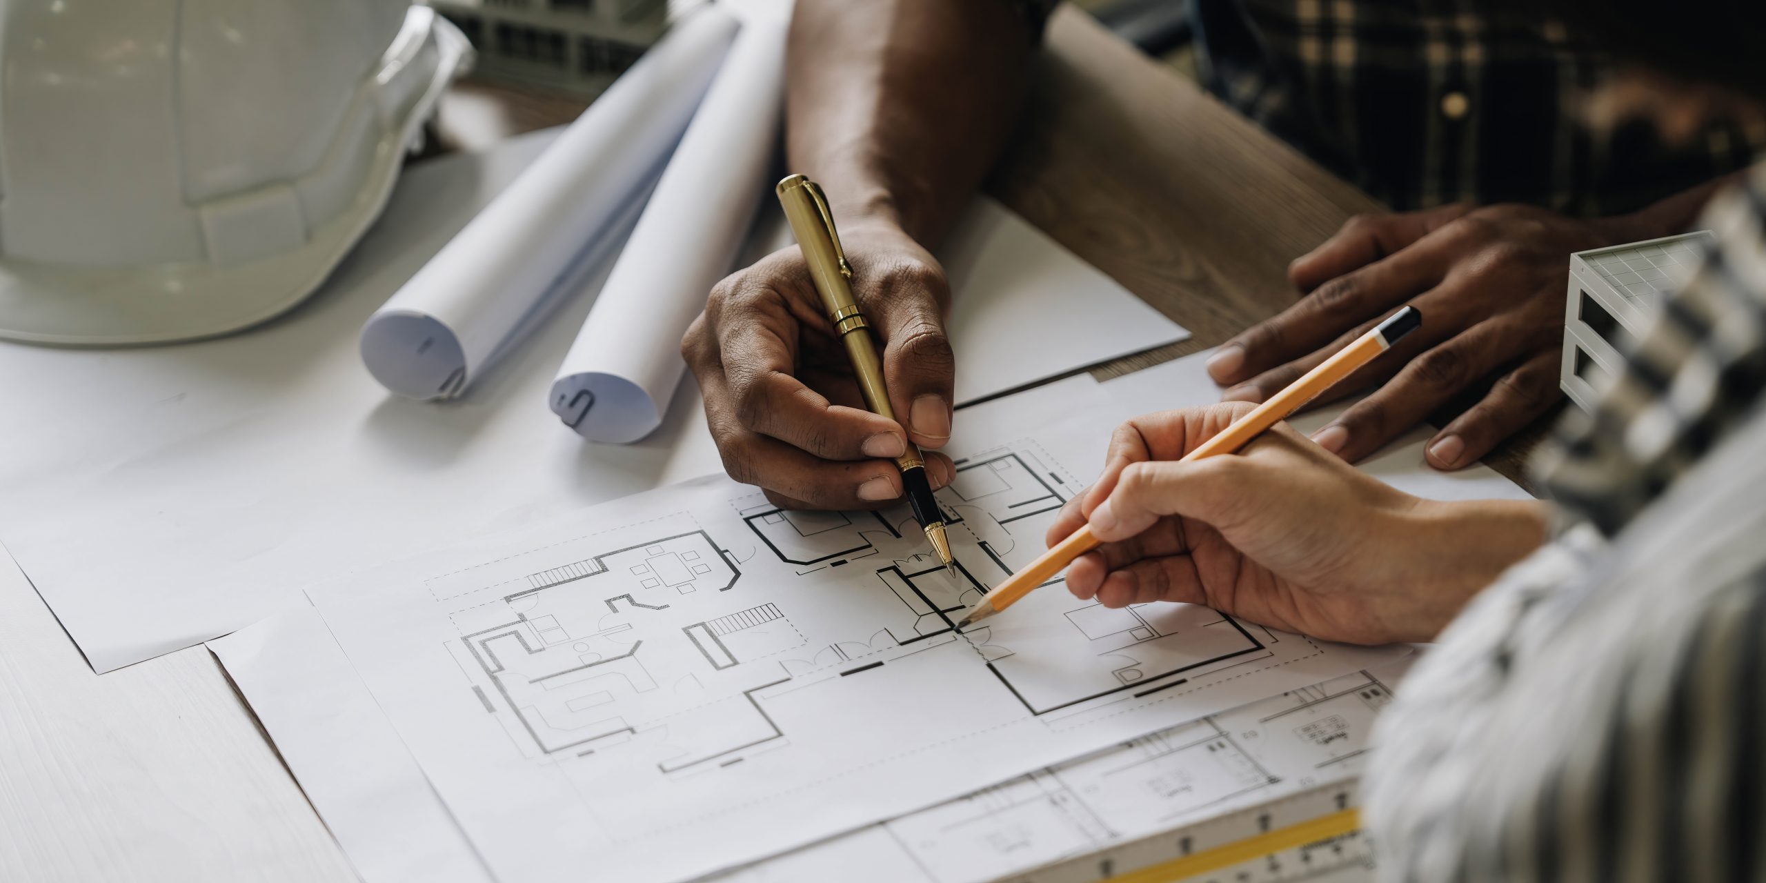
[[1091, 533], [1102, 542], [1118, 542], [1166, 516], [1217, 525], [1233, 500], [1231, 489], [1241, 468], [1238, 456], [1132, 463], [1121, 470], [1111, 494], [1091, 510]]

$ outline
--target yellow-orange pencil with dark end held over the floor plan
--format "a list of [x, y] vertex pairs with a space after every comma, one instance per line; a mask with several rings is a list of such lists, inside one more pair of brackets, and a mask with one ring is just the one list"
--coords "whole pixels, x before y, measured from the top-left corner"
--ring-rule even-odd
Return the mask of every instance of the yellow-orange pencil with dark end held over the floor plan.
[[[1203, 442], [1196, 450], [1183, 456], [1185, 461], [1211, 457], [1215, 454], [1231, 454], [1252, 438], [1257, 438], [1264, 429], [1282, 422], [1287, 415], [1298, 411], [1305, 403], [1316, 399], [1326, 389], [1333, 387], [1339, 380], [1353, 374], [1358, 367], [1372, 362], [1379, 353], [1385, 353], [1392, 344], [1399, 343], [1400, 337], [1416, 330], [1423, 321], [1422, 313], [1416, 307], [1404, 307], [1393, 313], [1386, 321], [1381, 321], [1367, 334], [1360, 336], [1349, 346], [1344, 346], [1333, 353], [1317, 367], [1307, 371], [1300, 380], [1293, 381], [1282, 392], [1277, 392], [1268, 401], [1254, 408], [1245, 417], [1233, 422], [1220, 434]], [[1049, 551], [1042, 553], [1028, 567], [1012, 574], [982, 595], [973, 608], [957, 623], [957, 629], [970, 625], [973, 622], [985, 620], [994, 613], [1000, 613], [1019, 599], [1030, 593], [1030, 590], [1054, 579], [1054, 574], [1074, 563], [1074, 558], [1097, 549], [1100, 546], [1098, 539], [1091, 535], [1091, 525], [1083, 525], [1065, 540], [1056, 542]]]

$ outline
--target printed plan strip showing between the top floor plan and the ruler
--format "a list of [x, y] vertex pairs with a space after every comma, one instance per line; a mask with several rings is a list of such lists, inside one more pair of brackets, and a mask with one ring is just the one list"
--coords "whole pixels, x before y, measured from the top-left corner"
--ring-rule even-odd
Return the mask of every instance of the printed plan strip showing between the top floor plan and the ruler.
[[[719, 874], [706, 883], [1023, 883], [1111, 876], [1111, 846], [1309, 788], [1355, 796], [1374, 715], [1408, 660], [1151, 733], [1086, 758]], [[1328, 867], [1335, 844], [1309, 862]], [[1360, 858], [1360, 857], [1358, 857]], [[1224, 879], [1236, 879], [1227, 876]]]

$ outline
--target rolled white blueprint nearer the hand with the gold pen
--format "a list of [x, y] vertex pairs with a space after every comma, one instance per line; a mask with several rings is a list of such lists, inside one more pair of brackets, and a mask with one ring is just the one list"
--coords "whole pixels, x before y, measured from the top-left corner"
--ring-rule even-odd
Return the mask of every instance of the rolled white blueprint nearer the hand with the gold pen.
[[784, 25], [751, 19], [558, 369], [551, 410], [585, 438], [638, 442], [662, 424], [685, 371], [680, 337], [768, 191], [782, 90]]

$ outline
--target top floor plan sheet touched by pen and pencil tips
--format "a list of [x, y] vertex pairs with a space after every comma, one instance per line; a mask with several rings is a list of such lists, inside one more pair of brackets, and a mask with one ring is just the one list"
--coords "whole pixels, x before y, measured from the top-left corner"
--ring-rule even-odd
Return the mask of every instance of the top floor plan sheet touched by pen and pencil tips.
[[1061, 585], [959, 632], [1098, 450], [1051, 433], [957, 459], [954, 569], [904, 509], [786, 512], [715, 479], [314, 600], [510, 879], [735, 867], [1397, 653]]

